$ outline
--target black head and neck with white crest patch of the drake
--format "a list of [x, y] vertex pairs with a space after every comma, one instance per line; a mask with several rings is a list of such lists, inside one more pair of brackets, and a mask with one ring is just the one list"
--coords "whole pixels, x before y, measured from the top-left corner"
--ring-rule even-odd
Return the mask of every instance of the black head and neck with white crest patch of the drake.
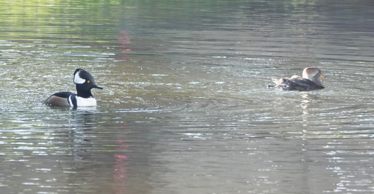
[[[84, 69], [76, 69], [76, 71], [74, 72], [73, 81], [76, 84], [78, 96], [92, 96], [92, 88], [103, 89], [102, 87], [96, 85], [92, 75]], [[86, 91], [89, 91], [89, 93], [87, 93]]]

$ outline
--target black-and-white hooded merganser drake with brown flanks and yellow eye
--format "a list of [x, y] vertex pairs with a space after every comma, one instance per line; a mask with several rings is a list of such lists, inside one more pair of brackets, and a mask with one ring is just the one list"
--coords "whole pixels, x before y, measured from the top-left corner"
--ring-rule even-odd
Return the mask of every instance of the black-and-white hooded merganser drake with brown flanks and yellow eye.
[[91, 94], [92, 88], [103, 89], [95, 84], [92, 75], [83, 69], [77, 69], [74, 72], [73, 79], [77, 93], [59, 92], [55, 93], [45, 101], [45, 104], [51, 106], [96, 106], [96, 99]]

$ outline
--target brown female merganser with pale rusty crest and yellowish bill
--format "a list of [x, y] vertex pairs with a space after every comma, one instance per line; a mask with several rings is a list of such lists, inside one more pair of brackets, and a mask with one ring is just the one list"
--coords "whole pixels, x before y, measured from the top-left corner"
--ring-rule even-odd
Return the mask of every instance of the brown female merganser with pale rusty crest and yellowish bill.
[[272, 78], [276, 85], [268, 85], [268, 88], [280, 87], [282, 90], [315, 90], [325, 88], [319, 78], [327, 78], [316, 67], [305, 68], [303, 77], [293, 75], [291, 78]]

